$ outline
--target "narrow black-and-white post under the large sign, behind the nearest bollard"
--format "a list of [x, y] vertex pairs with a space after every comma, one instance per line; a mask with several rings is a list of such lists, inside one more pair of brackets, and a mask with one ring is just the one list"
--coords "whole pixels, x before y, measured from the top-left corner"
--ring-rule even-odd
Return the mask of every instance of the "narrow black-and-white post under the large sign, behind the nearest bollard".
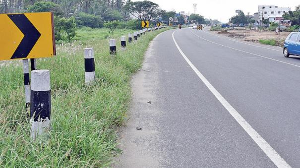
[[25, 107], [30, 108], [30, 77], [29, 77], [29, 61], [23, 59], [23, 72], [24, 72], [24, 89], [25, 89]]

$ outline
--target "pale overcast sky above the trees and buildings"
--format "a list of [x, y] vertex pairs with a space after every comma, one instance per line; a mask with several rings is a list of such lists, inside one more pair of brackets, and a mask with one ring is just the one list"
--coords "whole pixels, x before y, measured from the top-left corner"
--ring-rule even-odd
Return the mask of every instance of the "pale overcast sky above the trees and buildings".
[[[142, 1], [142, 0], [132, 0]], [[258, 5], [276, 5], [278, 7], [292, 7], [300, 4], [300, 0], [150, 0], [164, 10], [175, 10], [177, 12], [193, 13], [193, 3], [197, 3], [197, 13], [211, 19], [228, 22], [229, 18], [241, 9], [245, 14], [252, 15], [258, 11]]]

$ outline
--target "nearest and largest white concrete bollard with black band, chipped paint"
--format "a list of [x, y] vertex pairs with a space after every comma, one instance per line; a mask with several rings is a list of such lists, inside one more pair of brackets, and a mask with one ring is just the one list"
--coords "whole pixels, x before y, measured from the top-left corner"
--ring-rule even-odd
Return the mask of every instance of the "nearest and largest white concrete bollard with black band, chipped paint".
[[49, 70], [31, 71], [30, 136], [36, 139], [50, 130], [51, 86]]

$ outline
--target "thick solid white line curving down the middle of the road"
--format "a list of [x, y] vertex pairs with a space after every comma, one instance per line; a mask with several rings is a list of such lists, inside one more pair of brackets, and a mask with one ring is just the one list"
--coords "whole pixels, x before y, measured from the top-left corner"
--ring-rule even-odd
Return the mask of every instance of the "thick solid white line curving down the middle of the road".
[[[175, 31], [177, 32], [177, 31]], [[214, 88], [214, 86], [202, 75], [202, 73], [194, 66], [194, 64], [185, 56], [185, 54], [180, 49], [177, 44], [174, 33], [172, 34], [173, 41], [179, 50], [181, 56], [190, 65], [194, 72], [198, 75], [201, 81], [206, 85], [206, 87], [212, 92], [212, 94], [219, 100], [219, 102], [224, 106], [224, 108], [236, 119], [240, 126], [248, 133], [248, 135], [254, 140], [254, 142], [262, 149], [262, 151], [270, 158], [270, 160], [278, 168], [291, 168], [291, 166], [283, 159], [281, 156], [265, 141], [258, 132], [237, 112], [228, 101]]]

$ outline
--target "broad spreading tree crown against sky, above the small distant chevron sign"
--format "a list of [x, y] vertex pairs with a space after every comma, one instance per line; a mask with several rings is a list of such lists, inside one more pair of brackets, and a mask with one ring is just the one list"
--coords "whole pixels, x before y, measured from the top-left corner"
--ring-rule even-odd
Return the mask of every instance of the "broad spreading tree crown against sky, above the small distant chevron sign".
[[159, 9], [158, 4], [148, 0], [128, 1], [125, 5], [125, 9], [137, 19], [149, 21], [164, 12], [164, 10]]

